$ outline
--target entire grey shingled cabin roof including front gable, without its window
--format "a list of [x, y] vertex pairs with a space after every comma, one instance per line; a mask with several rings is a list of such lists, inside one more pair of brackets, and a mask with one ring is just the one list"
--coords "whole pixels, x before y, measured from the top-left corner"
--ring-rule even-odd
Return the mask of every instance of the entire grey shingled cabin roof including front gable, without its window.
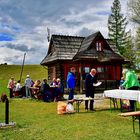
[[[97, 52], [96, 50], [95, 40], [97, 37], [105, 41], [105, 47], [102, 52]], [[52, 35], [48, 53], [42, 60], [41, 65], [57, 60], [86, 59], [97, 59], [99, 61], [124, 60], [110, 48], [110, 42], [106, 41], [100, 32], [96, 32], [88, 37]]]

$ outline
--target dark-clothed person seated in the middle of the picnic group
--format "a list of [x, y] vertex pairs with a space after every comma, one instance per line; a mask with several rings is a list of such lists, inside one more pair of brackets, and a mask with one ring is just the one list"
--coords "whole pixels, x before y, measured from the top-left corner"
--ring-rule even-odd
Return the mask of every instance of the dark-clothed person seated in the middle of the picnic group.
[[44, 102], [48, 102], [51, 100], [51, 92], [49, 91], [50, 86], [47, 83], [47, 79], [43, 79], [43, 82], [40, 87], [40, 92], [42, 94]]

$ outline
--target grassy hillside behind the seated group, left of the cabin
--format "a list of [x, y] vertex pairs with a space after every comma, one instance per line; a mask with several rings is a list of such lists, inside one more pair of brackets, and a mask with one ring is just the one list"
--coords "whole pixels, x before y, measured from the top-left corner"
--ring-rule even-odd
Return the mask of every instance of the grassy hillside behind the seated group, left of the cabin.
[[[0, 65], [0, 95], [5, 92], [9, 94], [7, 89], [7, 83], [11, 76], [15, 80], [20, 79], [21, 74], [21, 65]], [[21, 83], [24, 85], [24, 80], [26, 75], [29, 74], [33, 81], [43, 78], [47, 78], [47, 68], [42, 67], [41, 65], [25, 65], [23, 68]]]

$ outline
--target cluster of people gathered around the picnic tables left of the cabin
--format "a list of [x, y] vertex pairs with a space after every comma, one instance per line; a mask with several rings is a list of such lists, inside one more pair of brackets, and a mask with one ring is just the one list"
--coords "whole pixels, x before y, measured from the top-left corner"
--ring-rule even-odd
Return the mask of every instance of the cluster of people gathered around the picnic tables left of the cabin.
[[47, 79], [43, 79], [42, 82], [41, 80], [33, 82], [30, 75], [26, 76], [24, 86], [21, 85], [20, 80], [16, 82], [14, 77], [11, 77], [7, 88], [10, 92], [10, 98], [14, 96], [33, 97], [44, 101], [57, 101], [58, 98], [62, 98], [64, 93], [63, 85], [59, 78], [54, 78], [52, 82], [48, 84]]

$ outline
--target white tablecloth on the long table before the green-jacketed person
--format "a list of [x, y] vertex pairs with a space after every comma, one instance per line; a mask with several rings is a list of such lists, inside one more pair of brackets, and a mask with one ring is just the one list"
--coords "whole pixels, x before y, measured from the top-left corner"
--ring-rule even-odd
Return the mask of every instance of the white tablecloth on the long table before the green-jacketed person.
[[126, 89], [105, 90], [104, 97], [128, 99], [140, 102], [140, 91]]

